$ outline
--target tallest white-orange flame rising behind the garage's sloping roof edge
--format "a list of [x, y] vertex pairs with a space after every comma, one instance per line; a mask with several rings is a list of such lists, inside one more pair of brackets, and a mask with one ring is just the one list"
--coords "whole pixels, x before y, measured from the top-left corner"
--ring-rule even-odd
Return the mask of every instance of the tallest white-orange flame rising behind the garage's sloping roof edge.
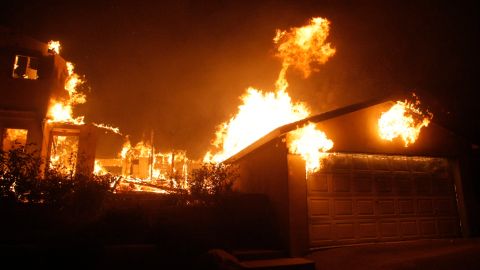
[[286, 74], [288, 68], [293, 66], [308, 77], [316, 70], [312, 64], [323, 64], [335, 54], [330, 43], [325, 43], [329, 24], [327, 19], [318, 17], [312, 18], [303, 27], [277, 30], [273, 41], [277, 46], [277, 56], [283, 61], [275, 83], [276, 90], [263, 92], [248, 88], [241, 97], [243, 103], [238, 107], [237, 114], [217, 128], [216, 139], [212, 143], [217, 151], [208, 152], [204, 162], [222, 162], [275, 128], [310, 115], [305, 104], [292, 102], [286, 91]]

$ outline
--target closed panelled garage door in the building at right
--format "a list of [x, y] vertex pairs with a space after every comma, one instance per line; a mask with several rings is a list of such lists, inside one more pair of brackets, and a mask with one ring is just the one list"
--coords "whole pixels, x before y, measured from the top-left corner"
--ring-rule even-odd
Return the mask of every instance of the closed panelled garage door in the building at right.
[[307, 187], [310, 247], [460, 233], [446, 159], [336, 154]]

